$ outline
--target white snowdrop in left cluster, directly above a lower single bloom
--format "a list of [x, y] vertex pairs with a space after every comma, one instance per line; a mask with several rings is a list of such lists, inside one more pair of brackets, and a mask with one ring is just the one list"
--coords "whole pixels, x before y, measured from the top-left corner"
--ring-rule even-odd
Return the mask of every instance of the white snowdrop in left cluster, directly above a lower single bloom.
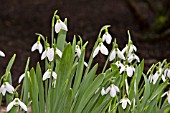
[[45, 57], [48, 58], [49, 61], [53, 61], [54, 59], [54, 48], [48, 47], [41, 56], [41, 60], [43, 60]]

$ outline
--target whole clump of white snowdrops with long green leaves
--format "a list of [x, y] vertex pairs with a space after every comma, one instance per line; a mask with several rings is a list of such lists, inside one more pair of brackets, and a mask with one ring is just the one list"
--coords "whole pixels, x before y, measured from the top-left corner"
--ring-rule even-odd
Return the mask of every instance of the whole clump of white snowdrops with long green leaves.
[[[144, 73], [144, 60], [138, 57], [129, 31], [128, 43], [120, 49], [116, 39], [112, 41], [109, 27], [101, 28], [86, 63], [88, 43], [80, 36], [67, 42], [67, 19], [61, 21], [56, 11], [51, 42], [47, 36], [36, 34], [38, 40], [31, 48], [32, 52], [39, 51], [44, 69], [39, 62], [29, 68], [28, 58], [19, 85], [14, 88], [10, 73], [14, 54], [0, 79], [0, 104], [5, 96], [10, 113], [25, 113], [28, 108], [32, 113], [168, 113], [170, 63], [158, 62]], [[112, 44], [112, 50], [107, 49], [108, 44]], [[98, 54], [107, 57], [100, 70], [98, 64], [92, 66]], [[5, 54], [0, 51], [0, 56]]]

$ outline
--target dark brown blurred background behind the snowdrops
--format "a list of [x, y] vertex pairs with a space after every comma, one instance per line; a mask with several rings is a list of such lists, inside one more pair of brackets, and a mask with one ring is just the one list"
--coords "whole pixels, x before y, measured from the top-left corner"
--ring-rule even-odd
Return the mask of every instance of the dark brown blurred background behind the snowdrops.
[[[6, 54], [0, 58], [0, 75], [5, 73], [14, 53], [14, 85], [24, 71], [27, 57], [31, 57], [31, 66], [35, 67], [40, 60], [37, 51], [31, 53], [37, 41], [35, 33], [50, 37], [55, 10], [62, 20], [68, 18], [68, 41], [74, 34], [89, 41], [86, 60], [100, 28], [110, 24], [109, 33], [116, 37], [120, 49], [127, 43], [130, 30], [137, 54], [145, 59], [146, 70], [165, 58], [170, 61], [169, 6], [170, 0], [0, 0], [0, 50]], [[105, 59], [99, 55], [95, 62], [101, 62], [103, 67]]]

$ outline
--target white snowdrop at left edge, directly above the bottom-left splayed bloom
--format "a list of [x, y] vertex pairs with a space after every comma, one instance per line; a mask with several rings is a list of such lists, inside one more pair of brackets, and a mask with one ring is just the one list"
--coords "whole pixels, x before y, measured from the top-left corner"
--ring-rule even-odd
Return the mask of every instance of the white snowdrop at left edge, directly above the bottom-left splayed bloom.
[[10, 94], [13, 94], [14, 92], [14, 87], [8, 82], [4, 82], [0, 88], [0, 93], [2, 93], [3, 96], [5, 96], [6, 91]]

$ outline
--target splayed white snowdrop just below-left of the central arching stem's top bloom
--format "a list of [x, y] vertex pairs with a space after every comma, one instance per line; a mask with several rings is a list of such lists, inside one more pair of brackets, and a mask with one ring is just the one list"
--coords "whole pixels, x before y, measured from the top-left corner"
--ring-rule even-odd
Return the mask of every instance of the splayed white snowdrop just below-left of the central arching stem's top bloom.
[[96, 49], [94, 50], [93, 53], [93, 58], [99, 53], [99, 51], [104, 54], [104, 55], [108, 55], [108, 49], [103, 45], [103, 43], [99, 43], [99, 45], [96, 47]]

